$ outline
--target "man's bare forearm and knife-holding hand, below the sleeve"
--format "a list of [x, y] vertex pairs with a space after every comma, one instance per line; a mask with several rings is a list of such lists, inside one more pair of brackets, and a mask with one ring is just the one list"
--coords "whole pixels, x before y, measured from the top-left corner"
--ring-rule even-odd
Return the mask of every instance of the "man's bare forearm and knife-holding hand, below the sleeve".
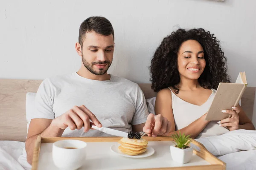
[[64, 130], [69, 127], [71, 130], [81, 129], [84, 126], [84, 132], [90, 130], [90, 120], [97, 126], [102, 124], [96, 116], [90, 112], [84, 105], [74, 106], [66, 113], [51, 119], [32, 119], [29, 124], [29, 132], [26, 140], [27, 161], [32, 163], [33, 148], [38, 135], [41, 137], [61, 137]]

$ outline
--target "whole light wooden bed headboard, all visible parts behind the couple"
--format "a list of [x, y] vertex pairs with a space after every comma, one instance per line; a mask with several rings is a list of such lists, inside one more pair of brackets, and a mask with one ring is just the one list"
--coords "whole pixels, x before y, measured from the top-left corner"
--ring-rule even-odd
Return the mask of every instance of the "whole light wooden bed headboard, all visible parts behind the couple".
[[[26, 93], [36, 92], [42, 80], [0, 79], [0, 140], [26, 140]], [[139, 84], [145, 98], [156, 96], [151, 84]], [[241, 106], [250, 119], [256, 88], [247, 87]]]

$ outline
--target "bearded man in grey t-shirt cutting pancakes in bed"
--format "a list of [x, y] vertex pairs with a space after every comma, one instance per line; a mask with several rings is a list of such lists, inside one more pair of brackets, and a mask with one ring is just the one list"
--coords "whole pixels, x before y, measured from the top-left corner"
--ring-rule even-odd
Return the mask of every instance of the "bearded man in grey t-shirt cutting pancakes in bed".
[[[139, 86], [108, 74], [114, 51], [114, 31], [104, 17], [89, 17], [81, 23], [76, 51], [81, 57], [78, 72], [45, 79], [35, 97], [35, 115], [26, 140], [31, 164], [35, 139], [58, 136], [107, 136], [91, 125], [148, 136], [167, 135], [170, 123], [148, 114]], [[67, 128], [69, 127], [69, 128]]]

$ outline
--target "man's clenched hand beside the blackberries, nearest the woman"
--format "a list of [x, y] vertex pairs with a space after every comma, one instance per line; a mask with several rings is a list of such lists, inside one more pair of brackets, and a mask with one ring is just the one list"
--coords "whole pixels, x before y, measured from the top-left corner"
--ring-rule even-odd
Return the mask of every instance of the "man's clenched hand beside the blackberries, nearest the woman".
[[145, 126], [143, 127], [143, 131], [147, 133], [148, 136], [168, 136], [171, 132], [171, 122], [160, 114], [155, 116], [154, 114], [150, 113]]

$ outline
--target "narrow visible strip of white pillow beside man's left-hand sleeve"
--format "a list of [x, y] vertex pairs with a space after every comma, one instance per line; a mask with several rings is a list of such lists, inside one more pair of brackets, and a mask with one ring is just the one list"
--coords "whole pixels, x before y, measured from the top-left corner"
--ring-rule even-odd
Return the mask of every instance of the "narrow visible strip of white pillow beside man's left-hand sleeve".
[[35, 94], [32, 92], [26, 93], [26, 121], [27, 121], [27, 131], [29, 130], [29, 123], [31, 121], [32, 115], [35, 109]]

